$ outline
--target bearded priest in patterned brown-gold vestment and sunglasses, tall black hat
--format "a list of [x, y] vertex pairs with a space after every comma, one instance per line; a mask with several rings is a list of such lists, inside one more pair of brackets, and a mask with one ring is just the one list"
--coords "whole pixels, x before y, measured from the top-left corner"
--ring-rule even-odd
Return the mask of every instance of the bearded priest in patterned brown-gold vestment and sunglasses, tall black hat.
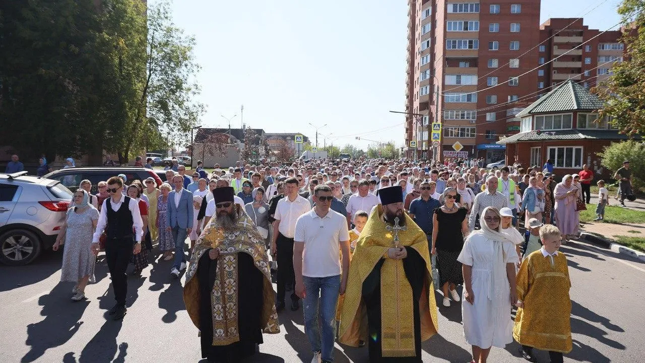
[[239, 362], [262, 333], [279, 333], [264, 239], [232, 187], [213, 189], [216, 216], [197, 240], [186, 272], [184, 304], [201, 335], [202, 358]]

